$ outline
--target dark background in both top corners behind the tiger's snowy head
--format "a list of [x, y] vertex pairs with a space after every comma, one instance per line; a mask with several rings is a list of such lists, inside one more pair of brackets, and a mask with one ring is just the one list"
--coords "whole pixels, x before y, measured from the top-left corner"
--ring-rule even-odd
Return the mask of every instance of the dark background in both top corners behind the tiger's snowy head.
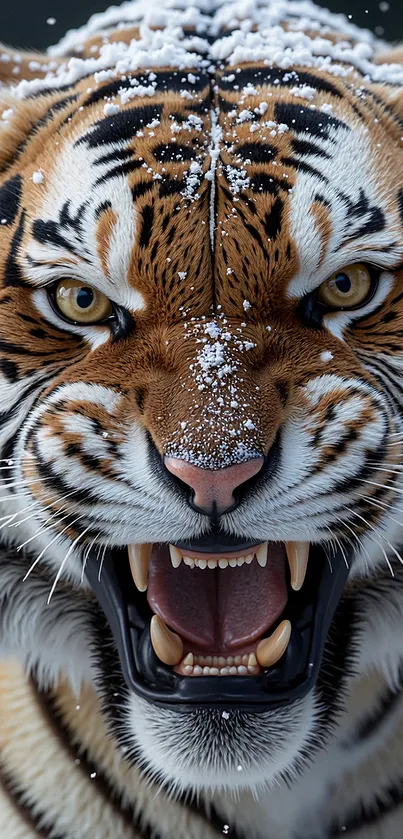
[[[112, 1], [0, 0], [0, 41], [43, 49], [56, 43], [67, 29], [81, 26], [94, 12], [107, 9]], [[351, 15], [354, 23], [373, 29], [387, 40], [403, 40], [403, 0], [323, 0], [320, 5]], [[48, 18], [56, 18], [56, 23], [49, 25]]]

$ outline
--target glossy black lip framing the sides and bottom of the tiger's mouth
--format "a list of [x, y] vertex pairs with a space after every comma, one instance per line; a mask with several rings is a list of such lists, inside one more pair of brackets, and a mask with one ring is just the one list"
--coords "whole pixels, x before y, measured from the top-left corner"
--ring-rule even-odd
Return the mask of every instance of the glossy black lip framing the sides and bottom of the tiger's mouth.
[[[196, 541], [191, 544], [194, 549]], [[240, 544], [242, 539], [238, 550]], [[299, 592], [290, 591], [279, 619], [289, 616], [292, 622], [287, 651], [278, 665], [256, 677], [186, 678], [162, 664], [151, 645], [147, 598], [135, 589], [125, 549], [106, 553], [101, 575], [98, 557], [90, 553], [85, 571], [110, 624], [130, 690], [171, 710], [225, 707], [263, 712], [301, 699], [314, 687], [350, 559], [351, 551], [349, 555], [340, 549], [329, 561], [320, 546], [311, 546], [305, 583]]]

